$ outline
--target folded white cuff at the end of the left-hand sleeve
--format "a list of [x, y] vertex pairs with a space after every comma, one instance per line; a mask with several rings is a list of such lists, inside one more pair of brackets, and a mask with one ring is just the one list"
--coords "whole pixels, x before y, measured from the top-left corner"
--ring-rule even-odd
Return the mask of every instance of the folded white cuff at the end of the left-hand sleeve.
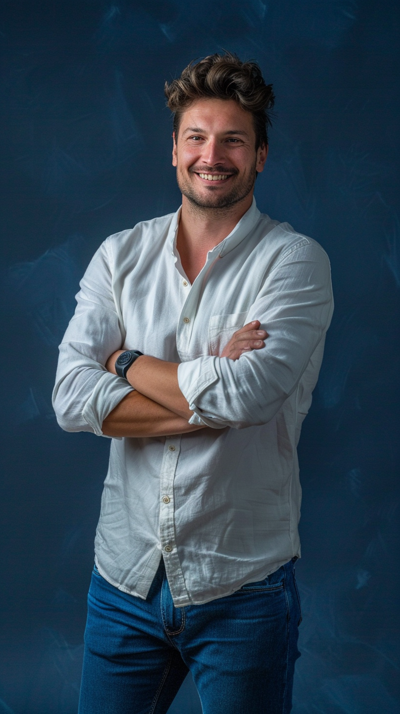
[[129, 392], [133, 391], [134, 388], [126, 379], [117, 377], [111, 372], [104, 372], [104, 376], [97, 382], [82, 411], [82, 416], [97, 436], [106, 436], [101, 431], [104, 419]]

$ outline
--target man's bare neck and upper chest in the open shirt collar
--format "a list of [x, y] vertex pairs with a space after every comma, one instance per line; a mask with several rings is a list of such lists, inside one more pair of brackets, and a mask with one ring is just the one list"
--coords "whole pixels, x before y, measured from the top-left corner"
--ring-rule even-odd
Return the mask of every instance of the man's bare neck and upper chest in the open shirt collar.
[[176, 248], [189, 281], [193, 283], [206, 262], [207, 253], [229, 236], [249, 210], [253, 191], [229, 208], [201, 208], [182, 196]]

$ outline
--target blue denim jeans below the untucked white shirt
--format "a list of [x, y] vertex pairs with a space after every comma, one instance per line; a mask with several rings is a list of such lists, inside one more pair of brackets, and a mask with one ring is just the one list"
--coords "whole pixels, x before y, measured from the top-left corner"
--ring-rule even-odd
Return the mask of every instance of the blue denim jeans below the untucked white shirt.
[[79, 714], [166, 713], [189, 670], [204, 714], [291, 710], [300, 601], [294, 560], [204, 605], [176, 608], [164, 561], [146, 600], [91, 576]]

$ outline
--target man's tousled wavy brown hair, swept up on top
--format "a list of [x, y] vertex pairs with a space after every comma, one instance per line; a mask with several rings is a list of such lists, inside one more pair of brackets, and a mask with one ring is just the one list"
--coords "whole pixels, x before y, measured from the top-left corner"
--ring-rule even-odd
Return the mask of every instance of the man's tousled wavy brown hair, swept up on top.
[[275, 97], [272, 84], [265, 84], [256, 62], [242, 62], [231, 52], [210, 54], [188, 64], [178, 79], [166, 82], [164, 94], [174, 113], [175, 136], [183, 112], [196, 99], [234, 99], [253, 115], [256, 150], [268, 144]]

